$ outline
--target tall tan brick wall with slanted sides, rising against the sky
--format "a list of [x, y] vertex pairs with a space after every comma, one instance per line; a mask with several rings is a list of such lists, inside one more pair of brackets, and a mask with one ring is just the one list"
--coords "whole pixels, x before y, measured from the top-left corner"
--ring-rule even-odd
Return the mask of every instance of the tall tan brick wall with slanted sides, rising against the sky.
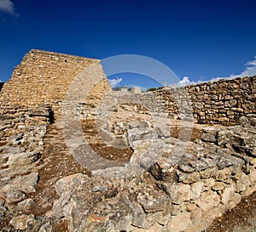
[[[55, 117], [59, 117], [61, 101], [73, 79], [96, 62], [100, 60], [33, 49], [3, 85], [1, 105], [49, 105]], [[102, 77], [102, 82], [92, 89], [94, 94], [102, 95], [111, 90], [107, 78]]]

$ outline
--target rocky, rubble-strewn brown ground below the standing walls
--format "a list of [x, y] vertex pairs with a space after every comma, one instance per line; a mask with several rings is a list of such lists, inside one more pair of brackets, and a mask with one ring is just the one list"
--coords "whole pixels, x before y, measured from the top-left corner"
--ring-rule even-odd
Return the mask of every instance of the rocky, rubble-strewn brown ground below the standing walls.
[[235, 127], [195, 124], [189, 142], [180, 137], [189, 131], [180, 120], [166, 130], [125, 107], [103, 120], [100, 132], [94, 120], [82, 127], [102, 157], [131, 160], [129, 172], [84, 170], [47, 109], [3, 112], [1, 231], [255, 230], [255, 116]]

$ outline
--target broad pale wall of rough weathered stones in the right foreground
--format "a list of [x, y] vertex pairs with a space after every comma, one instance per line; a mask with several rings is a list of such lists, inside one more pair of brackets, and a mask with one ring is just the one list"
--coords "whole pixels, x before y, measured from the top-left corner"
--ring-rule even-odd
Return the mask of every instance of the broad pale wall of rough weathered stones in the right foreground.
[[[227, 127], [224, 131], [238, 133], [241, 127]], [[245, 127], [245, 130], [247, 136], [255, 139], [253, 127]], [[203, 133], [216, 132], [218, 138], [217, 131], [207, 128]], [[161, 141], [171, 144], [168, 147], [172, 150], [174, 140]], [[174, 165], [172, 152], [154, 150], [160, 152], [159, 158], [148, 170], [134, 177], [89, 178], [74, 174], [62, 178], [55, 185], [60, 199], [55, 201], [54, 215], [67, 218], [70, 231], [206, 229], [214, 218], [236, 207], [243, 195], [256, 190], [254, 157], [242, 150], [236, 153], [232, 146], [225, 148], [217, 140], [215, 143], [208, 140], [186, 142], [186, 153], [179, 156]], [[155, 141], [138, 137], [135, 153], [144, 154], [143, 144], [147, 147], [147, 143]], [[253, 144], [248, 148], [253, 149]], [[249, 159], [248, 170], [241, 156]], [[140, 160], [135, 162], [140, 163]], [[109, 192], [114, 194], [109, 195]]]

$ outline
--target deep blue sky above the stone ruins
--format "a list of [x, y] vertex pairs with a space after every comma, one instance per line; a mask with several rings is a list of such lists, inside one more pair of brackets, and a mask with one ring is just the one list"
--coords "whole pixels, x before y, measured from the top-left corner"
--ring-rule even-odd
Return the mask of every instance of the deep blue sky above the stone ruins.
[[[32, 48], [96, 59], [140, 54], [189, 82], [256, 74], [255, 12], [251, 0], [0, 0], [0, 80]], [[137, 85], [125, 75], [111, 78]]]

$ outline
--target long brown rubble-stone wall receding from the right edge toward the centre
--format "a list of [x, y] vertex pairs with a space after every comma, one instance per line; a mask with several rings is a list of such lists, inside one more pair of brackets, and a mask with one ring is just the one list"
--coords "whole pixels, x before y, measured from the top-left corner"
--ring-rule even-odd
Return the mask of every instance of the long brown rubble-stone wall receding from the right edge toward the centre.
[[148, 93], [113, 91], [102, 99], [102, 104], [137, 105], [145, 113], [166, 113], [170, 117], [184, 115], [200, 123], [231, 126], [237, 124], [241, 116], [256, 112], [255, 89], [256, 76], [239, 77]]

